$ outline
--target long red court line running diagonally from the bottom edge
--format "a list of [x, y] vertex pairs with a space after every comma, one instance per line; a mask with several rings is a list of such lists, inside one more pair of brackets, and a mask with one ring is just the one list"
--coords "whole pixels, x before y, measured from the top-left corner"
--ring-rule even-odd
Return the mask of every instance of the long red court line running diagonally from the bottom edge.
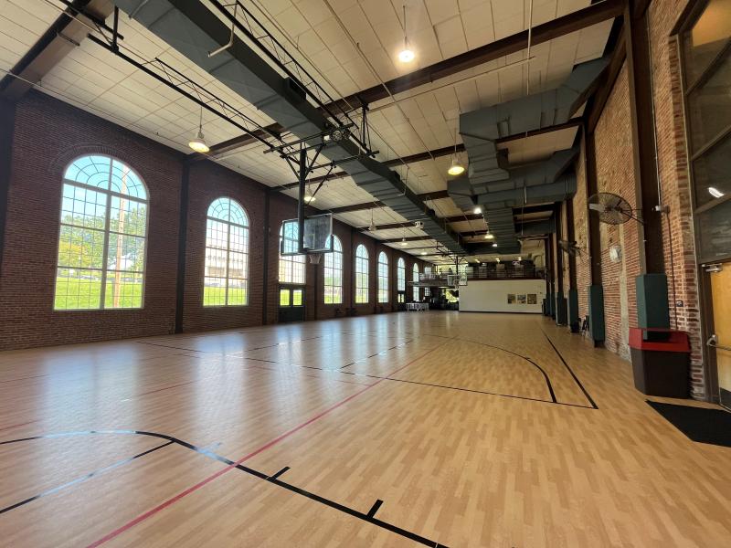
[[[399, 371], [401, 371], [402, 369], [408, 367], [410, 364], [413, 364], [414, 362], [420, 360], [421, 358], [423, 358], [424, 356], [428, 355], [429, 353], [434, 352], [435, 350], [437, 350], [438, 348], [440, 348], [440, 346], [442, 346], [442, 344], [440, 344], [439, 346], [435, 346], [434, 348], [432, 348], [431, 350], [429, 350], [429, 351], [427, 351], [425, 353], [422, 353], [420, 356], [414, 358], [413, 360], [411, 360], [410, 362], [408, 362], [408, 364], [403, 365], [402, 367], [399, 367], [396, 371], [394, 371], [393, 373], [389, 374], [388, 376], [391, 376], [393, 374], [397, 374]], [[96, 548], [96, 546], [101, 546], [101, 544], [107, 543], [108, 541], [111, 541], [111, 539], [113, 539], [114, 537], [122, 534], [122, 532], [125, 532], [125, 531], [127, 531], [129, 529], [132, 529], [132, 527], [134, 527], [138, 523], [145, 521], [147, 518], [153, 516], [157, 512], [164, 510], [165, 508], [167, 508], [168, 506], [171, 506], [172, 504], [175, 504], [175, 502], [180, 501], [182, 498], [186, 497], [190, 493], [192, 493], [192, 492], [194, 492], [196, 490], [199, 490], [200, 488], [202, 488], [205, 485], [207, 485], [207, 483], [210, 483], [214, 479], [217, 479], [219, 476], [222, 476], [226, 472], [228, 472], [228, 471], [230, 471], [232, 469], [235, 469], [239, 464], [241, 464], [241, 463], [249, 460], [249, 458], [254, 458], [257, 455], [259, 455], [262, 451], [266, 451], [268, 448], [270, 448], [270, 447], [278, 444], [285, 437], [290, 437], [295, 432], [298, 432], [298, 431], [302, 430], [302, 428], [307, 427], [307, 426], [313, 424], [314, 421], [322, 418], [323, 416], [327, 415], [331, 411], [334, 411], [335, 409], [337, 409], [340, 406], [344, 406], [346, 403], [348, 403], [352, 399], [355, 399], [357, 396], [363, 394], [366, 390], [370, 390], [374, 386], [382, 383], [387, 378], [388, 377], [383, 378], [383, 379], [378, 379], [372, 385], [366, 385], [363, 390], [360, 390], [360, 391], [356, 392], [354, 395], [349, 395], [344, 400], [336, 403], [334, 406], [328, 407], [322, 413], [319, 413], [318, 415], [313, 416], [308, 421], [303, 422], [300, 426], [293, 427], [293, 428], [291, 428], [291, 430], [286, 431], [284, 434], [281, 434], [280, 436], [275, 437], [270, 442], [266, 443], [265, 445], [261, 446], [260, 448], [255, 449], [254, 451], [251, 451], [248, 455], [245, 455], [244, 457], [239, 458], [233, 464], [229, 464], [225, 469], [218, 470], [215, 474], [213, 474], [211, 476], [208, 476], [206, 479], [202, 479], [201, 481], [198, 481], [196, 483], [196, 485], [194, 485], [192, 487], [189, 487], [186, 490], [180, 491], [174, 497], [171, 497], [167, 501], [164, 501], [163, 503], [158, 504], [154, 508], [152, 508], [152, 509], [150, 509], [148, 511], [145, 511], [144, 513], [142, 513], [139, 516], [137, 516], [136, 518], [134, 518], [131, 522], [127, 522], [124, 525], [122, 525], [122, 527], [119, 527], [118, 529], [115, 529], [114, 531], [107, 533], [106, 535], [104, 535], [103, 537], [101, 537], [101, 539], [99, 539], [98, 541], [95, 541], [93, 543], [90, 543], [89, 546], [87, 546], [87, 548]]]

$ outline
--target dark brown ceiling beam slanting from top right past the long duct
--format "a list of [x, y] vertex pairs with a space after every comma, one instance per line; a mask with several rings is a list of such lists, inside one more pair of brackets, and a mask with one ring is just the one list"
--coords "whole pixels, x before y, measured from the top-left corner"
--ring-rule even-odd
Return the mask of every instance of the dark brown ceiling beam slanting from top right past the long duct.
[[[606, 21], [622, 14], [624, 8], [624, 0], [605, 0], [598, 4], [588, 5], [583, 9], [567, 14], [566, 16], [557, 17], [551, 21], [533, 27], [531, 30], [531, 44], [538, 45], [548, 42], [557, 37], [562, 37], [572, 32], [577, 32], [582, 28], [596, 25], [602, 21]], [[344, 109], [348, 109], [347, 105], [358, 106], [361, 104], [370, 104], [377, 100], [386, 99], [388, 91], [391, 94], [401, 93], [403, 91], [413, 90], [418, 86], [429, 84], [438, 79], [447, 78], [453, 74], [457, 74], [468, 68], [478, 67], [484, 63], [488, 63], [498, 58], [503, 58], [512, 53], [522, 51], [528, 47], [528, 31], [524, 30], [509, 37], [495, 40], [490, 44], [482, 47], [476, 47], [470, 51], [466, 51], [461, 55], [444, 59], [429, 67], [419, 68], [414, 72], [410, 72], [395, 79], [388, 80], [385, 83], [387, 90], [382, 85], [376, 85], [367, 90], [359, 91], [353, 95], [345, 97], [341, 100], [334, 101], [334, 104], [327, 105], [331, 110], [337, 108], [337, 103], [342, 103]], [[275, 127], [276, 126], [276, 127]], [[281, 126], [274, 124], [267, 127], [272, 132], [281, 132]], [[254, 142], [249, 135], [240, 135], [221, 142], [211, 147], [210, 155], [216, 157], [217, 154], [229, 153], [238, 147], [246, 146]]]

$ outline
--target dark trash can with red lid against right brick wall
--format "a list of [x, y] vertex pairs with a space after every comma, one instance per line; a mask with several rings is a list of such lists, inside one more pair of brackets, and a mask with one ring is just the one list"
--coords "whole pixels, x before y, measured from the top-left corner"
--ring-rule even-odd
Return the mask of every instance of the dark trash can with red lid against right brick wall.
[[691, 345], [688, 333], [630, 327], [634, 386], [642, 394], [688, 397]]

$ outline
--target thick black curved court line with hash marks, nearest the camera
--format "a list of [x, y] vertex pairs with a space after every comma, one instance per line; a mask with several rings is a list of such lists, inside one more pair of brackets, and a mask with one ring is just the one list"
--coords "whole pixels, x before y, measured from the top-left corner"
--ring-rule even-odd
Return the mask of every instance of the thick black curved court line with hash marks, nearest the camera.
[[[147, 432], [144, 430], [88, 430], [88, 431], [80, 431], [80, 432], [60, 432], [58, 434], [47, 434], [42, 436], [32, 436], [32, 437], [21, 437], [19, 439], [10, 439], [7, 441], [0, 441], [0, 446], [11, 444], [11, 443], [19, 443], [22, 441], [29, 441], [32, 439], [43, 439], [43, 438], [56, 438], [56, 437], [71, 437], [71, 436], [93, 436], [98, 434], [121, 434], [121, 435], [137, 435], [137, 436], [150, 436], [150, 437], [159, 437], [161, 439], [166, 439], [168, 443], [159, 446], [158, 448], [164, 448], [165, 446], [170, 445], [171, 443], [175, 443], [181, 447], [191, 449], [193, 451], [196, 451], [196, 453], [199, 453], [201, 455], [204, 455], [208, 458], [213, 458], [219, 462], [222, 462], [228, 466], [234, 466], [235, 468], [246, 472], [247, 474], [254, 476], [259, 479], [263, 479], [273, 485], [276, 485], [277, 487], [281, 487], [283, 489], [289, 490], [293, 493], [297, 493], [298, 495], [302, 495], [303, 497], [306, 497], [310, 499], [311, 501], [320, 502], [321, 504], [328, 506], [330, 508], [333, 508], [337, 511], [342, 511], [350, 516], [353, 516], [359, 520], [362, 520], [364, 522], [371, 523], [372, 525], [376, 525], [377, 527], [380, 527], [382, 529], [386, 529], [390, 532], [395, 532], [396, 534], [408, 538], [411, 541], [414, 541], [416, 543], [424, 544], [425, 546], [432, 546], [434, 548], [447, 548], [445, 544], [440, 544], [435, 541], [429, 540], [427, 537], [421, 536], [417, 534], [416, 532], [410, 532], [406, 529], [403, 529], [401, 527], [398, 527], [397, 525], [394, 525], [393, 523], [384, 522], [382, 520], [377, 519], [374, 515], [370, 515], [370, 512], [364, 513], [362, 511], [357, 511], [353, 508], [350, 508], [348, 506], [345, 506], [344, 504], [341, 504], [339, 502], [331, 501], [330, 499], [325, 499], [324, 497], [315, 494], [308, 490], [303, 490], [299, 487], [296, 487], [294, 485], [291, 485], [291, 483], [287, 483], [285, 481], [281, 481], [281, 479], [277, 479], [277, 476], [284, 473], [284, 471], [288, 470], [289, 467], [285, 467], [284, 469], [280, 470], [277, 474], [275, 474], [272, 477], [267, 476], [263, 472], [260, 472], [256, 469], [250, 469], [247, 466], [244, 466], [243, 464], [236, 464], [235, 461], [231, 460], [230, 458], [222, 457], [221, 455], [218, 455], [217, 453], [214, 453], [213, 451], [207, 449], [207, 448], [200, 448], [197, 447], [191, 443], [188, 443], [186, 441], [183, 441], [182, 439], [178, 439], [177, 437], [168, 436], [166, 434], [158, 434], [157, 432]], [[156, 450], [157, 448], [154, 448], [152, 450]], [[152, 452], [152, 450], [146, 451], [144, 454], [149, 454]], [[142, 456], [142, 455], [141, 455]], [[92, 472], [93, 473], [93, 472]], [[32, 499], [34, 500], [34, 499]], [[28, 501], [21, 501], [20, 503], [16, 503], [10, 507], [8, 507], [4, 511], [10, 511], [14, 508], [17, 508], [18, 506], [25, 504]], [[379, 505], [380, 506], [380, 505]], [[373, 509], [371, 509], [373, 511]], [[376, 508], [377, 511], [377, 508]], [[2, 512], [0, 512], [2, 513]], [[374, 511], [374, 513], [376, 513]]]

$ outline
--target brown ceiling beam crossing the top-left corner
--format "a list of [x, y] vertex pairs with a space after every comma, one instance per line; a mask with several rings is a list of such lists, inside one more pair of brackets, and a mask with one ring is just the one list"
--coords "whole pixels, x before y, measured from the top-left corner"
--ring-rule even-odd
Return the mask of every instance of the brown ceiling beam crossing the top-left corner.
[[9, 100], [19, 100], [69, 51], [79, 47], [89, 34], [89, 26], [106, 27], [104, 20], [114, 11], [109, 0], [73, 0], [67, 4], [64, 12], [20, 58], [10, 74], [0, 80], [0, 95]]

